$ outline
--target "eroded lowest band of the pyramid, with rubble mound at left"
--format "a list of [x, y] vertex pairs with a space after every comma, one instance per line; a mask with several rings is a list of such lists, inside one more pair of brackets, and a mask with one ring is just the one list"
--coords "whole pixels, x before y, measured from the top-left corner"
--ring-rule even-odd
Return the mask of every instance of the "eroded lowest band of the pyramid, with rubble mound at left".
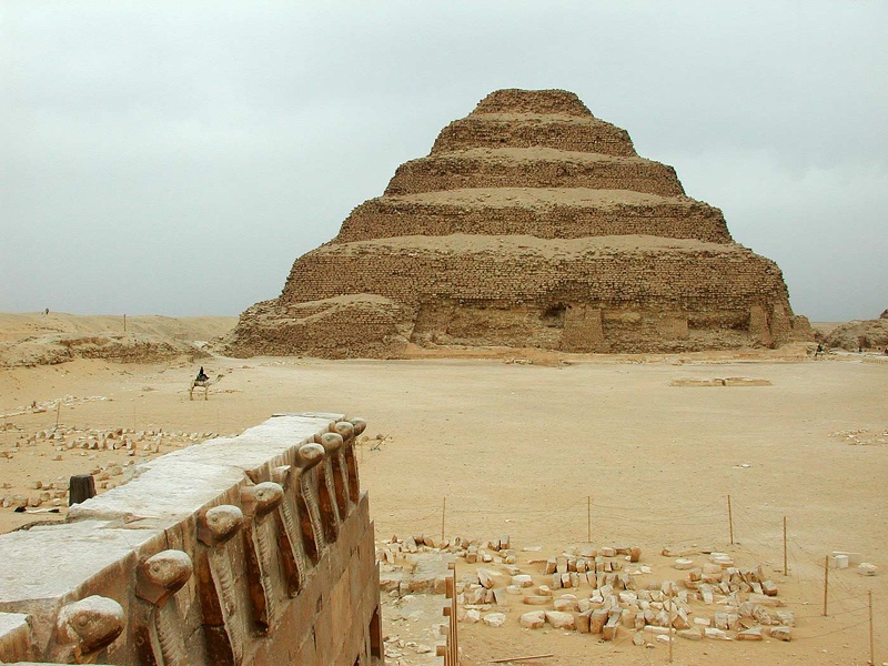
[[[781, 304], [680, 311], [601, 303], [523, 304], [438, 301], [404, 307], [403, 319], [366, 306], [294, 319], [265, 304], [245, 317], [224, 352], [323, 359], [397, 359], [408, 343], [443, 346], [535, 347], [573, 353], [677, 353], [774, 347], [811, 340], [805, 317]], [[381, 323], [384, 322], [384, 323]], [[332, 333], [331, 333], [332, 332]]]

